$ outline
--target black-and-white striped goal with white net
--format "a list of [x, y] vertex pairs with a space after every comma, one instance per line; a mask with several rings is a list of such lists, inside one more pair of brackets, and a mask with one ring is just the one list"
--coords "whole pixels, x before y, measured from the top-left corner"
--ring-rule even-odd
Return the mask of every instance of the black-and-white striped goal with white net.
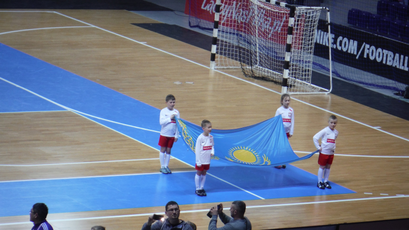
[[[316, 28], [321, 11], [267, 0], [217, 0], [210, 68], [241, 68], [246, 77], [282, 85], [281, 93], [328, 94], [311, 84]], [[331, 36], [328, 38], [331, 44]], [[329, 57], [331, 58], [329, 48]]]

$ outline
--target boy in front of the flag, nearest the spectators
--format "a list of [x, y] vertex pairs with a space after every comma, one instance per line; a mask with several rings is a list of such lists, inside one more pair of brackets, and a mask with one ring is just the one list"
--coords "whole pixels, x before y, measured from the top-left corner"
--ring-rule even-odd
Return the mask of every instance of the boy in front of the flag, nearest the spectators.
[[203, 120], [201, 122], [201, 128], [203, 133], [201, 133], [196, 140], [195, 154], [196, 154], [196, 195], [207, 196], [205, 189], [206, 172], [210, 168], [210, 158], [214, 156], [214, 140], [213, 136], [210, 135], [212, 131], [212, 123], [208, 120]]

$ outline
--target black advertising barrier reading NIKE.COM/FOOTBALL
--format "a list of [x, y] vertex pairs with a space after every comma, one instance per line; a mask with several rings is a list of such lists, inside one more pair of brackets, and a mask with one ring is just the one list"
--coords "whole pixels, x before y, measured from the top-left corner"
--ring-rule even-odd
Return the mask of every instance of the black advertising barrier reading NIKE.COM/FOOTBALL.
[[314, 55], [328, 59], [328, 45], [335, 62], [409, 85], [407, 43], [338, 24], [331, 24], [329, 35], [326, 21], [320, 19]]

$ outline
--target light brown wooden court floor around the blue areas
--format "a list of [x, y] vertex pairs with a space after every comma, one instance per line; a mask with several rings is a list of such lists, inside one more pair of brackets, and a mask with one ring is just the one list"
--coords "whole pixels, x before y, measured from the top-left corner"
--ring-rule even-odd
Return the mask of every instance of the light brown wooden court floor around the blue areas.
[[[280, 106], [279, 86], [244, 78], [238, 70], [209, 70], [205, 67], [209, 66], [208, 51], [130, 25], [157, 21], [121, 10], [56, 12], [60, 14], [0, 12], [0, 42], [158, 109], [165, 107], [165, 96], [173, 94], [175, 108], [182, 118], [196, 124], [208, 119], [216, 129], [264, 121], [274, 116]], [[30, 30], [39, 28], [56, 29]], [[5, 33], [19, 30], [27, 31]], [[178, 85], [173, 83], [175, 81], [194, 84]], [[409, 121], [334, 95], [294, 96], [291, 107], [296, 124], [290, 144], [295, 151], [313, 151], [312, 136], [324, 128], [330, 114], [335, 113], [339, 131], [337, 154], [409, 156]], [[157, 156], [156, 150], [71, 111], [0, 113], [1, 165]], [[316, 174], [316, 161], [314, 155], [292, 165]], [[245, 201], [249, 207], [246, 216], [252, 221], [253, 229], [409, 218], [409, 198], [395, 197], [409, 195], [408, 164], [409, 158], [335, 156], [330, 180], [355, 194], [249, 200]], [[192, 170], [175, 159], [171, 165], [176, 171]], [[89, 167], [87, 164], [35, 168], [0, 166], [0, 180], [156, 172], [159, 162], [104, 163], [93, 165], [92, 170]], [[379, 199], [362, 199], [376, 197]], [[386, 197], [391, 198], [384, 199]], [[198, 211], [181, 213], [180, 218], [196, 223], [198, 229], [207, 229], [209, 219], [203, 210], [212, 205], [182, 205], [181, 211]], [[224, 205], [230, 206], [230, 203]], [[164, 212], [164, 207], [50, 214], [47, 219], [54, 229], [82, 230], [93, 225], [138, 229], [147, 221], [144, 214], [153, 212]], [[112, 218], [132, 214], [140, 215]], [[27, 216], [1, 217], [0, 224], [15, 224], [0, 225], [0, 229], [29, 229], [30, 223], [18, 224], [28, 221], [28, 212]], [[218, 225], [222, 225], [220, 221]]]

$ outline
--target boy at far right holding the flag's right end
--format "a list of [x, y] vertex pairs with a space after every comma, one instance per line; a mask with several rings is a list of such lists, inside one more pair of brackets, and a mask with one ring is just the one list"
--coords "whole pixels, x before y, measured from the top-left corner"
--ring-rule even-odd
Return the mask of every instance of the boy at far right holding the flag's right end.
[[[331, 189], [328, 177], [332, 160], [334, 159], [335, 139], [338, 136], [338, 131], [335, 130], [337, 122], [337, 118], [334, 115], [331, 115], [328, 119], [328, 127], [315, 134], [312, 138], [316, 149], [320, 150], [320, 156], [318, 157], [320, 168], [318, 169], [318, 183], [316, 185], [316, 187], [320, 189]], [[321, 145], [318, 142], [320, 139]]]

